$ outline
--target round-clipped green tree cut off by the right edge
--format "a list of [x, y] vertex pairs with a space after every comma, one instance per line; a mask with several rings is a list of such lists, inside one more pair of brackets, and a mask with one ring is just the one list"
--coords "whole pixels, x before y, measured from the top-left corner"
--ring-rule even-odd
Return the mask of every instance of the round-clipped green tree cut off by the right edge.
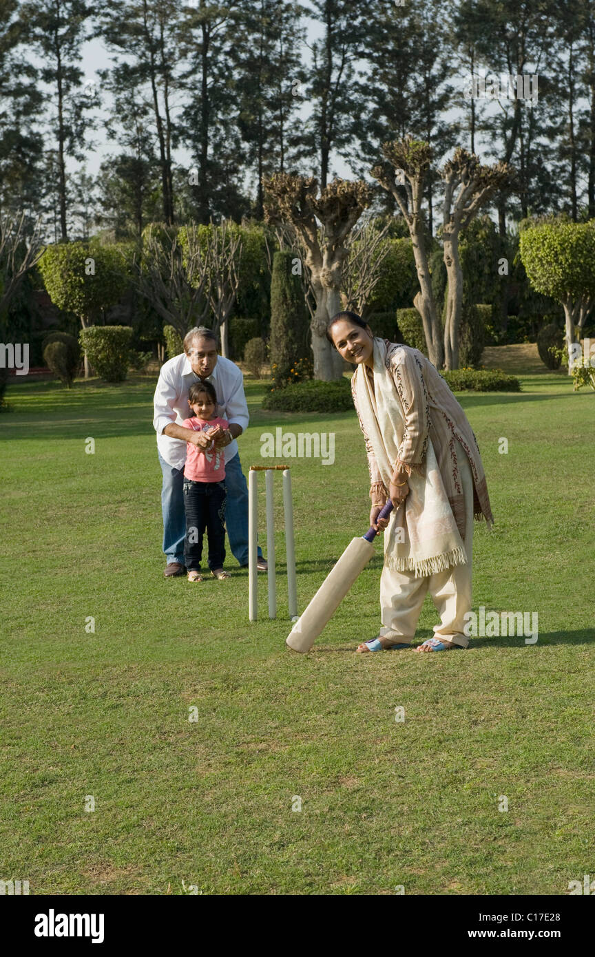
[[572, 345], [579, 341], [595, 302], [595, 219], [588, 223], [553, 220], [529, 226], [520, 233], [519, 251], [537, 292], [562, 302], [570, 374]]

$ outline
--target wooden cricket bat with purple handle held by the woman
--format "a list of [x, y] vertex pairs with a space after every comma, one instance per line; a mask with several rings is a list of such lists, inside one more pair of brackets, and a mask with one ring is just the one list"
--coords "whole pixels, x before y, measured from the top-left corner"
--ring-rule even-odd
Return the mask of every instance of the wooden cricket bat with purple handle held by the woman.
[[[386, 519], [392, 511], [390, 499], [378, 518]], [[370, 526], [362, 538], [352, 539], [337, 565], [329, 572], [320, 589], [298, 618], [287, 637], [286, 644], [295, 652], [309, 652], [320, 632], [342, 603], [347, 591], [374, 554], [374, 539], [378, 532]]]

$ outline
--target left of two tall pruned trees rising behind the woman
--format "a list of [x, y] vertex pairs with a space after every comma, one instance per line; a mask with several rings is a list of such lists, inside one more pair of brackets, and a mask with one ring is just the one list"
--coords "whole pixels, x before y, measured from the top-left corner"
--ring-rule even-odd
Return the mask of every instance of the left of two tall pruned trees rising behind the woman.
[[374, 167], [372, 176], [393, 196], [407, 222], [420, 287], [413, 304], [422, 317], [430, 362], [436, 368], [441, 368], [444, 348], [440, 317], [431, 288], [426, 222], [422, 211], [426, 180], [430, 173], [430, 145], [406, 137], [385, 143], [382, 151], [386, 163]]

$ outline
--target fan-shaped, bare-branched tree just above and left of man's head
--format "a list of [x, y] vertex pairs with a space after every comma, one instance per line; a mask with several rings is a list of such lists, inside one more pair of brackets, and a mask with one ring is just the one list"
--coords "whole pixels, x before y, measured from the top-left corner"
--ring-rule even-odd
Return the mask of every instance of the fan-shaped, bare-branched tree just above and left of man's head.
[[189, 246], [183, 250], [177, 230], [151, 224], [143, 234], [143, 252], [133, 260], [135, 288], [182, 338], [209, 315], [209, 262], [197, 243]]

